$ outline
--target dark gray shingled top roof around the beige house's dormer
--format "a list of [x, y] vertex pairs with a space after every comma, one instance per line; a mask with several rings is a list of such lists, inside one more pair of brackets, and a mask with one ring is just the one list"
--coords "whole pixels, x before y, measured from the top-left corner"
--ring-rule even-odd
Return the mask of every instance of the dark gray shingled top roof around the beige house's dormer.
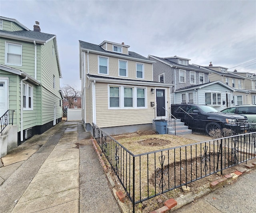
[[[80, 41], [80, 40], [79, 40], [79, 44], [80, 44], [80, 48], [84, 48], [84, 49], [88, 49], [88, 50], [100, 51], [100, 52], [103, 52], [103, 53], [113, 53], [113, 52], [104, 50], [98, 44], [92, 44], [92, 43], [83, 42], [83, 41]], [[128, 55], [121, 54], [121, 53], [116, 53], [116, 52], [113, 53], [113, 54], [120, 55], [120, 56], [129, 56], [129, 57], [132, 57], [132, 58], [138, 58], [138, 59], [143, 59], [143, 60], [149, 61], [148, 58], [146, 58], [144, 56], [141, 56], [140, 54], [137, 54], [136, 52], [131, 52], [131, 51], [128, 52]]]

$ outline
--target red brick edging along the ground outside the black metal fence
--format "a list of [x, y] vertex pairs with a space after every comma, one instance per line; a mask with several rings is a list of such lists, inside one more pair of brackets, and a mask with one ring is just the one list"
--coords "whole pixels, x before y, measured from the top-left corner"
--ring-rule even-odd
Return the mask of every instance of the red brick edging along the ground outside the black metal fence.
[[[104, 160], [102, 159], [101, 155], [100, 155], [100, 151], [98, 151], [98, 143], [95, 139], [91, 138], [92, 140], [92, 144], [93, 147], [98, 155], [98, 159], [100, 161], [100, 164], [102, 165], [102, 168], [106, 174], [106, 177], [108, 177], [108, 181], [110, 183], [110, 185], [112, 186], [112, 188], [115, 186], [114, 181], [112, 180], [112, 178], [110, 177], [110, 174], [108, 173], [108, 169], [104, 163]], [[226, 185], [227, 183], [230, 183], [231, 181], [237, 179], [240, 175], [252, 170], [256, 168], [256, 161], [253, 163], [249, 163], [244, 165], [246, 168], [240, 168], [236, 171], [234, 171], [233, 173], [230, 173], [228, 175], [224, 175], [224, 177], [217, 179], [216, 181], [211, 182], [210, 184], [205, 184], [202, 187], [202, 190], [197, 193], [197, 194], [192, 194], [192, 193], [188, 193], [187, 195], [184, 195], [183, 197], [177, 197], [176, 199], [171, 198], [168, 199], [167, 201], [164, 202], [164, 206], [156, 209], [154, 211], [152, 211], [151, 213], [164, 213], [167, 211], [173, 211], [176, 209], [179, 209], [180, 207], [183, 207], [184, 205], [187, 205], [188, 203], [193, 202], [194, 200], [214, 191], [215, 189], [218, 189], [224, 185]], [[115, 191], [114, 189], [112, 189], [113, 191]], [[123, 212], [126, 212], [126, 210], [124, 210], [124, 208], [126, 209], [126, 207], [124, 207], [123, 203], [125, 200], [125, 196], [124, 193], [122, 191], [115, 191], [116, 193], [114, 193], [114, 196], [116, 198], [119, 199], [120, 202], [120, 208], [122, 208]]]

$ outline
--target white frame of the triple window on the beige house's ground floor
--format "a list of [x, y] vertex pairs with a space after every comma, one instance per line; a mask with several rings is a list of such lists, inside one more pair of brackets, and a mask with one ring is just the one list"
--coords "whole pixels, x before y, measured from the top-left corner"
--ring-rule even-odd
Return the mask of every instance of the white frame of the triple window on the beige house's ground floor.
[[[119, 107], [110, 107], [110, 87], [119, 88]], [[124, 88], [132, 88], [132, 107], [124, 107]], [[144, 107], [137, 106], [137, 89], [144, 89]], [[147, 109], [147, 87], [108, 84], [108, 109]]]

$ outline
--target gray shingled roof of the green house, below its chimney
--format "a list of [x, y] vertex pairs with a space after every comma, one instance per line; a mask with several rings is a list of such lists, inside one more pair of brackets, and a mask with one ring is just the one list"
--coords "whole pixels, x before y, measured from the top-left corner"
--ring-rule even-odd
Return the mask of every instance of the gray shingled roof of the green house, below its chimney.
[[22, 37], [25, 37], [25, 38], [31, 38], [31, 39], [34, 39], [34, 40], [42, 40], [42, 41], [47, 41], [50, 38], [55, 36], [55, 35], [52, 35], [52, 34], [47, 34], [47, 33], [43, 33], [43, 32], [36, 32], [36, 31], [32, 31], [32, 30], [30, 30], [30, 31], [20, 30], [20, 31], [13, 31], [13, 32], [0, 30], [0, 35], [2, 33], [10, 34], [12, 36], [22, 36]]

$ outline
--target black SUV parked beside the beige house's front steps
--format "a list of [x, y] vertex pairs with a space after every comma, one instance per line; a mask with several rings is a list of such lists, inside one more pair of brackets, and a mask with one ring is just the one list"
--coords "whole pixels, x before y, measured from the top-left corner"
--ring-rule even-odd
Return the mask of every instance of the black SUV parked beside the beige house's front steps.
[[228, 128], [236, 133], [249, 130], [248, 119], [244, 115], [221, 113], [213, 107], [197, 104], [174, 104], [172, 116], [180, 118], [191, 129], [202, 129], [207, 134], [212, 129]]

